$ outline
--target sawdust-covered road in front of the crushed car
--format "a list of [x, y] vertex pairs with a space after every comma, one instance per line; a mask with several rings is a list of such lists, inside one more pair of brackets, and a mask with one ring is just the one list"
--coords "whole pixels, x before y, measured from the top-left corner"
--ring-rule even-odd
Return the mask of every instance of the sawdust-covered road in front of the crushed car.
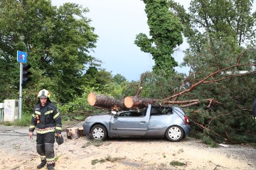
[[[210, 148], [191, 137], [181, 142], [164, 138], [111, 138], [94, 142], [87, 137], [58, 146], [55, 169], [256, 169], [256, 149], [241, 145]], [[36, 169], [36, 135], [28, 127], [0, 125], [0, 169]], [[46, 168], [43, 168], [46, 169]]]

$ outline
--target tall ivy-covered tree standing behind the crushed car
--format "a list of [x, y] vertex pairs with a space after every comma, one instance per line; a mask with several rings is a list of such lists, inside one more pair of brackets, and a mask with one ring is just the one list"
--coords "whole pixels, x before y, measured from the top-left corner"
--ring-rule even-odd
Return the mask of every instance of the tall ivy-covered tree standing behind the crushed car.
[[174, 13], [169, 11], [166, 0], [144, 0], [144, 3], [151, 38], [144, 33], [139, 33], [135, 44], [143, 52], [149, 52], [152, 55], [155, 62], [154, 72], [159, 73], [159, 70], [164, 69], [169, 77], [174, 67], [178, 66], [171, 54], [183, 41], [181, 34], [183, 26]]

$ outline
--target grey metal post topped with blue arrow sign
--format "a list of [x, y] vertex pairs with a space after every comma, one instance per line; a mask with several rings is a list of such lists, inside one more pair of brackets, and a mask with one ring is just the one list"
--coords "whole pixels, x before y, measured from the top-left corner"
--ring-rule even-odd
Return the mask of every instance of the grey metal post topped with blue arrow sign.
[[18, 98], [18, 118], [21, 120], [21, 108], [22, 108], [22, 79], [23, 79], [23, 62], [26, 63], [27, 53], [17, 51], [17, 61], [20, 62], [20, 86], [19, 86], [19, 98]]

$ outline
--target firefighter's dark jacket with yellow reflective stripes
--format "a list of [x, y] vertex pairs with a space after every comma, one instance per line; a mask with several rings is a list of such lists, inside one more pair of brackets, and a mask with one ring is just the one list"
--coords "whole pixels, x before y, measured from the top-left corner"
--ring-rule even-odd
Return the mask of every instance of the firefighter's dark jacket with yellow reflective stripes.
[[41, 103], [38, 103], [33, 108], [29, 131], [33, 132], [35, 128], [36, 132], [41, 134], [46, 132], [61, 133], [62, 123], [60, 113], [57, 107], [53, 103], [50, 103], [50, 101], [46, 103], [46, 106], [41, 106]]

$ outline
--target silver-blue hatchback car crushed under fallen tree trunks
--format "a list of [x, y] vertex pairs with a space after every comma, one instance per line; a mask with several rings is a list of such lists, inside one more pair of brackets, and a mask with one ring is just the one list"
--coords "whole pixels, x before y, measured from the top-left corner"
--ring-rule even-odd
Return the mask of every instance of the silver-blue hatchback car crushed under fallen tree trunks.
[[120, 111], [91, 115], [82, 125], [94, 140], [107, 137], [166, 137], [178, 142], [188, 137], [188, 117], [178, 107], [151, 106], [139, 111]]

